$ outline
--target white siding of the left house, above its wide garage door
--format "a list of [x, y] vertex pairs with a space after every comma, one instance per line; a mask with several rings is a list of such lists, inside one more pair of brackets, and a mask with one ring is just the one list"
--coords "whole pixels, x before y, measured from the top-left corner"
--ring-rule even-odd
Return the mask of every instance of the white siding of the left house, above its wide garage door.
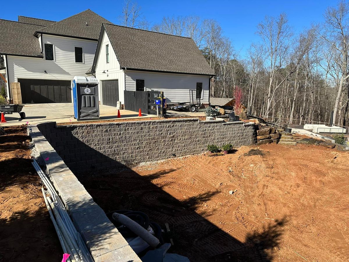
[[[60, 36], [43, 35], [43, 43], [53, 44], [54, 61], [8, 56], [10, 82], [17, 82], [18, 78], [72, 80], [75, 75], [86, 75], [97, 48], [97, 41]], [[75, 63], [75, 46], [83, 48], [84, 63]]]

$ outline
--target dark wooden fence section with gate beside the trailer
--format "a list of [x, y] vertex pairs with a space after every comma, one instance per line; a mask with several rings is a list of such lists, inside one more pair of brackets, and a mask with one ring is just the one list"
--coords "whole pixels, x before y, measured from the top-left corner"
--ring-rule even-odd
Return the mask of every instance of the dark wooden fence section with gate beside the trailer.
[[[124, 91], [125, 98], [125, 109], [130, 111], [138, 112], [139, 109], [142, 110], [144, 114], [154, 114], [156, 115], [156, 103], [155, 100], [158, 97], [164, 97], [164, 92], [159, 91]], [[163, 99], [160, 98], [162, 101]], [[158, 105], [159, 115], [163, 116], [163, 107]]]

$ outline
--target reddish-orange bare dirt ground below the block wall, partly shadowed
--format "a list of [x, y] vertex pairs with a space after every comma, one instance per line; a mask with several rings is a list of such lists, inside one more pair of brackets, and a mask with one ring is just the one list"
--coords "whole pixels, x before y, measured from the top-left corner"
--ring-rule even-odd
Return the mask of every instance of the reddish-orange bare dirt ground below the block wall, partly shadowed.
[[105, 211], [169, 223], [191, 262], [334, 262], [349, 261], [348, 170], [348, 152], [270, 144], [79, 179]]

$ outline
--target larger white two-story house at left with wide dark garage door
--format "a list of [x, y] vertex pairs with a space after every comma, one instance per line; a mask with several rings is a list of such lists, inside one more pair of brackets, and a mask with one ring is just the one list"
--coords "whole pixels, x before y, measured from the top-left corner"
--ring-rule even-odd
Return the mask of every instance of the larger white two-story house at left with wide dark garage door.
[[0, 19], [7, 98], [19, 82], [22, 103], [72, 102], [71, 81], [91, 68], [102, 23], [110, 22], [89, 9], [58, 22]]

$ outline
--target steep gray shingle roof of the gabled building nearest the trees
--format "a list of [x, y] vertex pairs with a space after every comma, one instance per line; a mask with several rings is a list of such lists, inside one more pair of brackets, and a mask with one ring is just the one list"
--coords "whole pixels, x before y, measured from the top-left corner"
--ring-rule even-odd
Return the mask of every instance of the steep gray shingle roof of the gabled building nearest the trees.
[[121, 67], [190, 74], [214, 74], [191, 38], [113, 24], [104, 24], [104, 29]]

